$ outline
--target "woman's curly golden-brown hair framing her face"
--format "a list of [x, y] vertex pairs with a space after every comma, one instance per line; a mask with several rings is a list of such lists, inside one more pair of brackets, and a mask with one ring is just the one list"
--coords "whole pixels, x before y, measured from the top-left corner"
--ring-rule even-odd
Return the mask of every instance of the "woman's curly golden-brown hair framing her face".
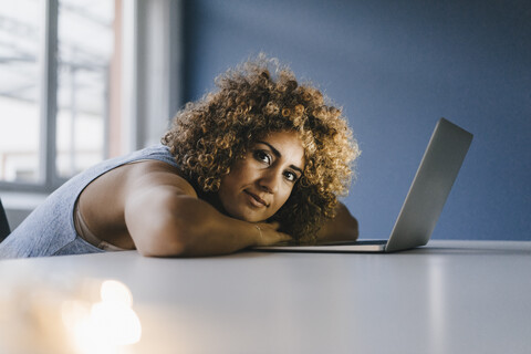
[[305, 166], [288, 201], [270, 219], [295, 241], [312, 242], [348, 191], [360, 155], [341, 108], [292, 71], [260, 54], [216, 79], [217, 91], [187, 103], [162, 142], [202, 195], [216, 194], [222, 176], [251, 145], [272, 132], [296, 132]]

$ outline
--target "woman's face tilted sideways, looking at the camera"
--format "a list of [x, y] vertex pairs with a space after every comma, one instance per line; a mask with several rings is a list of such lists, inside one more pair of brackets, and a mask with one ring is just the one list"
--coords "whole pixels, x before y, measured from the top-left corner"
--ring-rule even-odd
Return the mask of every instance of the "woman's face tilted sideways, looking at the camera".
[[237, 219], [267, 220], [288, 200], [303, 169], [304, 148], [296, 133], [271, 133], [251, 145], [221, 178], [221, 206]]

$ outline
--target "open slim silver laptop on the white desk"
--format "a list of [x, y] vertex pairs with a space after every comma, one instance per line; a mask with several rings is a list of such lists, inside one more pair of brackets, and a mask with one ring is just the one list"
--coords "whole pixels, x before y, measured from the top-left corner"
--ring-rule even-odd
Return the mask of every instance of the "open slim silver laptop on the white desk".
[[396, 252], [425, 246], [472, 142], [472, 134], [440, 118], [435, 126], [388, 240], [357, 240], [316, 246], [269, 246], [273, 252]]

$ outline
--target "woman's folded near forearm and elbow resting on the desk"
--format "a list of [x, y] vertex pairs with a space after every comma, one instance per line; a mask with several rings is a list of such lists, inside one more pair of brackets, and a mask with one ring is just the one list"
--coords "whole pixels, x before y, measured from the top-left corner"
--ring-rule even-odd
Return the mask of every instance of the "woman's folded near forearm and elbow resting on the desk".
[[226, 254], [291, 239], [277, 231], [278, 225], [222, 215], [174, 173], [152, 173], [133, 184], [124, 214], [138, 252], [149, 257]]

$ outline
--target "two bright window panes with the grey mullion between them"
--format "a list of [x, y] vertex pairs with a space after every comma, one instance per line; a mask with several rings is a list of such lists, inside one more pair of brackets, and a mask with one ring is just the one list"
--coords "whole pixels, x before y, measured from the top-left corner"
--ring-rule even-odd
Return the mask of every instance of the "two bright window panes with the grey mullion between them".
[[1, 188], [49, 191], [108, 157], [119, 4], [0, 3]]

